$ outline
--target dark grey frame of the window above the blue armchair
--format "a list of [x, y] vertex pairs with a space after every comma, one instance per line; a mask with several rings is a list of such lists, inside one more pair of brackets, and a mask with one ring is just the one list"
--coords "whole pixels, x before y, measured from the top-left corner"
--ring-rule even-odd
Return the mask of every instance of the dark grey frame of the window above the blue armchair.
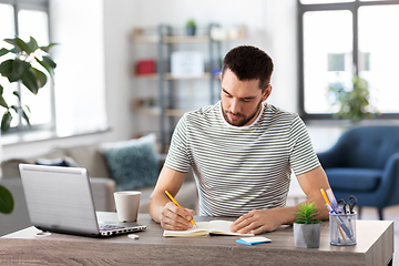
[[[368, 6], [386, 6], [386, 4], [399, 4], [399, 0], [385, 0], [385, 1], [360, 1], [355, 0], [352, 2], [338, 2], [338, 3], [301, 3], [297, 0], [298, 4], [298, 106], [299, 115], [304, 121], [309, 120], [332, 120], [332, 114], [321, 113], [307, 113], [305, 111], [305, 76], [304, 76], [304, 16], [309, 11], [335, 11], [335, 10], [348, 10], [352, 13], [352, 64], [355, 66], [355, 74], [359, 74], [358, 65], [358, 12], [361, 7]], [[375, 119], [399, 119], [399, 113], [382, 113]], [[334, 119], [336, 120], [336, 119]]]

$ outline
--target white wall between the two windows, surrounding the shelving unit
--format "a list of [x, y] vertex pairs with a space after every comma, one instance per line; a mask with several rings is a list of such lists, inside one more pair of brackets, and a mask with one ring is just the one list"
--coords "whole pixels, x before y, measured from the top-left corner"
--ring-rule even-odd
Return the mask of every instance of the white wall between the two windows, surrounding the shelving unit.
[[[142, 126], [131, 111], [131, 101], [139, 90], [134, 88], [131, 75], [132, 45], [129, 39], [134, 27], [158, 23], [183, 27], [188, 19], [195, 19], [198, 25], [209, 22], [244, 24], [247, 29], [244, 43], [262, 48], [275, 62], [274, 91], [269, 102], [297, 111], [296, 0], [52, 0], [51, 3], [52, 12], [57, 14], [53, 19], [58, 19], [52, 28], [54, 37], [68, 41], [70, 48], [84, 59], [75, 66], [64, 69], [65, 76], [69, 74], [72, 79], [63, 84], [68, 88], [64, 90], [66, 94], [59, 93], [61, 100], [58, 104], [73, 114], [64, 114], [61, 125], [66, 121], [90, 124], [89, 119], [79, 120], [89, 113], [96, 120], [103, 119], [111, 132], [6, 145], [3, 160], [41, 153], [53, 146], [125, 140]], [[229, 43], [224, 49], [235, 44]], [[59, 53], [59, 57], [71, 61], [66, 53]], [[62, 69], [60, 62], [59, 65]], [[89, 93], [92, 90], [88, 88], [98, 88], [98, 93]], [[72, 101], [64, 99], [68, 90], [73, 95]], [[101, 101], [105, 101], [106, 113], [99, 110]], [[70, 108], [71, 102], [78, 108], [74, 111]], [[150, 120], [147, 123], [154, 122]]]

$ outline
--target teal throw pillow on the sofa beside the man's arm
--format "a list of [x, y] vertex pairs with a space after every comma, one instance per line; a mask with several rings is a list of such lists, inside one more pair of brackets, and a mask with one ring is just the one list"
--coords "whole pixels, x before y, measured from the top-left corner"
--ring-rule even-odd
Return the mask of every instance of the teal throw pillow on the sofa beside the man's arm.
[[103, 143], [100, 147], [117, 191], [155, 185], [160, 171], [154, 133], [136, 140]]

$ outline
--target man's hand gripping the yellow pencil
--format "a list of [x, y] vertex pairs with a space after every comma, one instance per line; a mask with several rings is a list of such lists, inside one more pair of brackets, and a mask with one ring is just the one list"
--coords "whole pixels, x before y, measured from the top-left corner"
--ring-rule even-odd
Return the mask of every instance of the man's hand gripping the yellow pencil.
[[176, 206], [173, 202], [170, 202], [161, 211], [161, 226], [164, 229], [170, 231], [185, 231], [193, 227], [190, 222], [193, 219], [195, 212], [190, 208], [184, 211]]

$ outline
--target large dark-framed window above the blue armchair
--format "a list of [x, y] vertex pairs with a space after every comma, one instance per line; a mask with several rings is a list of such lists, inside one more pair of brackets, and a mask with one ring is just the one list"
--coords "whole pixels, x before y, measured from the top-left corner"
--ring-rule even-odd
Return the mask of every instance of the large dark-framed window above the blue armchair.
[[399, 116], [399, 0], [299, 0], [299, 112], [330, 119], [328, 88], [368, 81], [370, 104], [382, 117]]

